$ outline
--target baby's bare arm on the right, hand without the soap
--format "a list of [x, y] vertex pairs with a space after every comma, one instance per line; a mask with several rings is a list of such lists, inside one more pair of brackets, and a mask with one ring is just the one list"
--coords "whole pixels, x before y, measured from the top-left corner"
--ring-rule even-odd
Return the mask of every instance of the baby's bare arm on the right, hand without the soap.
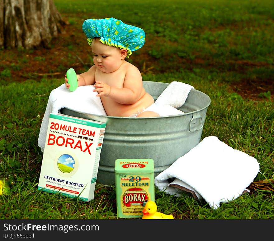
[[102, 81], [96, 81], [93, 91], [98, 91], [97, 96], [108, 96], [120, 104], [136, 103], [143, 89], [142, 76], [137, 67], [131, 66], [125, 74], [123, 88], [109, 86]]

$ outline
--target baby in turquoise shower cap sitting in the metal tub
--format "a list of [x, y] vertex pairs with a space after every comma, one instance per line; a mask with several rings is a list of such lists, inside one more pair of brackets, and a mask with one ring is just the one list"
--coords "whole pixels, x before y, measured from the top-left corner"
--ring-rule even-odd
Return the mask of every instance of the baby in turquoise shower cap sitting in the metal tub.
[[[115, 18], [87, 19], [82, 27], [94, 65], [77, 75], [78, 86], [93, 85], [109, 116], [159, 116], [153, 97], [143, 87], [140, 71], [125, 60], [144, 45], [144, 31]], [[70, 86], [66, 76], [65, 85]]]

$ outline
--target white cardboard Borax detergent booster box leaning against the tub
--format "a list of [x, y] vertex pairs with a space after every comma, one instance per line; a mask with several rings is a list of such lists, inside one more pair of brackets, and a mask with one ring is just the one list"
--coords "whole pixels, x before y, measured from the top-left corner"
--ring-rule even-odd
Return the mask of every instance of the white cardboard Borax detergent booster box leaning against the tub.
[[106, 123], [50, 114], [38, 190], [90, 201]]

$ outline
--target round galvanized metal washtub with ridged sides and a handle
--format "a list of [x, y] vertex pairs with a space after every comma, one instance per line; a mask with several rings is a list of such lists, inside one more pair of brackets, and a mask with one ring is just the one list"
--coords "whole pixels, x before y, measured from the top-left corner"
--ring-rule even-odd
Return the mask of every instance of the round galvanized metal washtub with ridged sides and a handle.
[[[145, 90], [157, 100], [168, 83], [143, 81]], [[97, 183], [115, 183], [116, 159], [153, 159], [154, 176], [167, 169], [201, 140], [210, 97], [192, 89], [185, 104], [178, 108], [185, 114], [130, 118], [93, 115], [63, 108], [65, 115], [106, 123]]]

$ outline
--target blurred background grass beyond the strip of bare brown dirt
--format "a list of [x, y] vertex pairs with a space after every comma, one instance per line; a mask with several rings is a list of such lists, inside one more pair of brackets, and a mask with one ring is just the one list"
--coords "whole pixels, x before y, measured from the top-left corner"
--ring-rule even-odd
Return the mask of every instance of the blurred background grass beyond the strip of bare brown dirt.
[[127, 1], [119, 4], [54, 2], [69, 19], [75, 20], [73, 13], [76, 12], [82, 16], [78, 19], [80, 22], [87, 18], [114, 16], [138, 25], [145, 30], [146, 40], [153, 40], [150, 46], [152, 57], [178, 54], [181, 58], [219, 58], [220, 63], [229, 58], [273, 64], [274, 3], [271, 0], [262, 3], [243, 0], [240, 4], [239, 1], [225, 0], [137, 0], [130, 3], [130, 8], [134, 9], [132, 14], [121, 7]]

